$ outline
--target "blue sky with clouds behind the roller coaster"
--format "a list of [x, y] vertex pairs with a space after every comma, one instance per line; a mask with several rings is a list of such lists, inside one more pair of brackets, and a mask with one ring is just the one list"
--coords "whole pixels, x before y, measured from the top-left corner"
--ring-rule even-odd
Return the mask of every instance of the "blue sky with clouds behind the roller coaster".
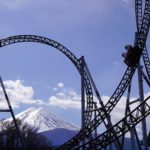
[[[0, 0], [0, 10], [1, 39], [35, 34], [56, 40], [85, 57], [104, 100], [112, 95], [126, 69], [124, 46], [134, 43], [133, 1]], [[15, 113], [45, 107], [80, 126], [80, 76], [70, 60], [38, 43], [9, 45], [0, 52], [0, 74]]]

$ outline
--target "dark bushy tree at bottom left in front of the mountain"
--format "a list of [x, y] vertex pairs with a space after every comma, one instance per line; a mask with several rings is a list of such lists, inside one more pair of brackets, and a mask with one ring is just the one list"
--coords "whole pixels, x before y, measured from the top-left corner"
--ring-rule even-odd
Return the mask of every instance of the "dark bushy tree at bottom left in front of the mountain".
[[[13, 121], [1, 121], [0, 131], [0, 149], [2, 150], [21, 150], [22, 146], [18, 138], [18, 133]], [[50, 142], [37, 130], [23, 124], [17, 120], [21, 137], [27, 150], [52, 150]]]

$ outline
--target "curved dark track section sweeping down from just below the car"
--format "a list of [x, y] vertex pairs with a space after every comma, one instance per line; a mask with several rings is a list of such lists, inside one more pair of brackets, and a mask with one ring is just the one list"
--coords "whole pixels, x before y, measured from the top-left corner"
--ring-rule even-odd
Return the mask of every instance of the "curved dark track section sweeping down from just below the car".
[[[105, 105], [105, 108], [107, 110], [107, 115], [109, 115], [109, 113], [113, 110], [113, 108], [119, 102], [121, 96], [123, 95], [126, 88], [128, 87], [134, 72], [135, 72], [135, 68], [133, 69], [131, 69], [130, 67], [127, 68], [117, 89], [115, 90], [110, 100]], [[60, 146], [58, 149], [60, 150], [76, 149], [78, 145], [80, 144], [80, 141], [83, 140], [85, 137], [88, 137], [92, 133], [92, 131], [94, 131], [103, 122], [103, 120], [106, 119], [107, 115], [102, 108], [99, 108], [98, 113], [99, 114], [85, 128], [81, 129], [80, 132], [82, 134], [76, 135], [75, 137], [70, 139], [68, 142]]]

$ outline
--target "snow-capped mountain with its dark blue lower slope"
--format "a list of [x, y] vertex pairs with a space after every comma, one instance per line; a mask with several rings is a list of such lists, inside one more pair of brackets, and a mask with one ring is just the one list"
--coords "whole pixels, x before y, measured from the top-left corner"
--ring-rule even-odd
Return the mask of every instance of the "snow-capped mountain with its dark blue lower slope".
[[[63, 144], [80, 130], [78, 126], [55, 116], [42, 107], [29, 108], [15, 115], [15, 117], [22, 120], [24, 124], [36, 129], [39, 134], [45, 136], [52, 145], [56, 146]], [[5, 121], [11, 120], [9, 118]]]

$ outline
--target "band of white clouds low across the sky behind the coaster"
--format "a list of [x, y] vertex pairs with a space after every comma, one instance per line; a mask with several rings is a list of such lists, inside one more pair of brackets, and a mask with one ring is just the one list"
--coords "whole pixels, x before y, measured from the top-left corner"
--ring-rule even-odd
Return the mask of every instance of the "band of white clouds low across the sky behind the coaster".
[[[6, 80], [4, 81], [4, 85], [10, 100], [10, 103], [13, 108], [20, 108], [21, 104], [24, 105], [49, 105], [51, 107], [59, 107], [61, 109], [81, 109], [81, 95], [77, 94], [77, 92], [72, 88], [66, 88], [63, 82], [57, 84], [57, 86], [52, 89], [52, 92], [55, 92], [52, 96], [49, 97], [48, 101], [45, 102], [41, 99], [34, 99], [34, 90], [30, 86], [25, 86], [22, 80]], [[145, 97], [150, 95], [147, 93]], [[109, 96], [102, 96], [104, 104], [109, 100]], [[136, 98], [131, 98], [131, 100], [135, 100]], [[94, 101], [98, 103], [98, 100], [94, 96]], [[133, 110], [139, 103], [136, 103], [131, 106], [131, 110]], [[126, 97], [123, 96], [119, 103], [116, 105], [114, 110], [111, 112], [112, 122], [115, 124], [120, 119], [124, 117], [125, 114], [125, 106], [126, 106]], [[8, 105], [5, 100], [5, 96], [2, 88], [0, 88], [0, 109], [6, 109]], [[148, 124], [150, 121], [148, 120]], [[140, 137], [142, 137], [141, 133], [141, 124], [137, 126], [137, 132]], [[127, 134], [129, 136], [129, 134]]]

